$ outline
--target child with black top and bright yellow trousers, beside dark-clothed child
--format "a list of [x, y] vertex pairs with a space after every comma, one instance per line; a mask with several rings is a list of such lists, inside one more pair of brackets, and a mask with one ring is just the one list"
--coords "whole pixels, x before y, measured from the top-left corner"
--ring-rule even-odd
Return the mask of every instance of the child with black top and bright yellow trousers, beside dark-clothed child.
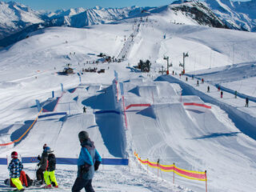
[[55, 188], [58, 188], [58, 182], [55, 178], [56, 158], [53, 154], [54, 150], [51, 150], [50, 147], [47, 146], [46, 152], [48, 154], [48, 166], [46, 167], [46, 171], [43, 174], [43, 177], [45, 178], [46, 182], [45, 188], [51, 188], [51, 184], [53, 184]]

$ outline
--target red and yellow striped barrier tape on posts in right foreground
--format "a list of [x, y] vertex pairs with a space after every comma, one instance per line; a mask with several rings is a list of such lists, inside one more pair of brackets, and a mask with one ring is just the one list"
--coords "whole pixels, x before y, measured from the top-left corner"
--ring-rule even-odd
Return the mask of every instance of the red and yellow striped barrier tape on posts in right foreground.
[[[158, 162], [150, 162], [148, 159], [142, 160], [142, 158], [138, 157], [138, 154], [134, 152], [134, 156], [138, 159], [139, 162], [141, 162], [143, 165], [150, 166], [152, 168], [156, 168], [158, 170], [162, 170], [165, 172], [174, 172], [174, 174], [178, 174], [179, 176], [182, 176], [183, 178], [189, 178], [193, 180], [198, 180], [198, 181], [205, 181], [206, 182], [206, 192], [207, 192], [207, 176], [206, 176], [206, 171], [200, 172], [200, 171], [194, 171], [194, 170], [182, 170], [173, 165], [161, 165]], [[173, 174], [173, 183], [174, 183], [174, 174]]]

